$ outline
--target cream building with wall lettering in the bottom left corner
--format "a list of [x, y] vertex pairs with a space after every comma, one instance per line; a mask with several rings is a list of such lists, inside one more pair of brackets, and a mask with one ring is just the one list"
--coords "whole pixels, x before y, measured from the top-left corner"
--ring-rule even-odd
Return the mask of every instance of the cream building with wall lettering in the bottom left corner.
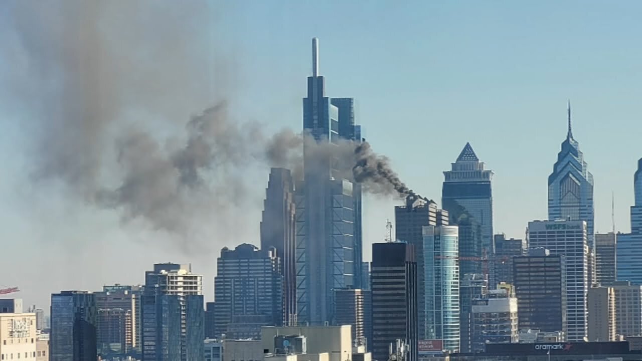
[[36, 314], [0, 313], [0, 360], [36, 360]]

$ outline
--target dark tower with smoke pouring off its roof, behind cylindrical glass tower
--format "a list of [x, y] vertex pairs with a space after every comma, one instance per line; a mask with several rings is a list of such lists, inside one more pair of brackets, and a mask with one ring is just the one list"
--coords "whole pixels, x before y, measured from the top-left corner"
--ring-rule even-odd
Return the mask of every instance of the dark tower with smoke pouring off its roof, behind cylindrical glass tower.
[[[423, 227], [447, 225], [448, 213], [437, 209], [437, 204], [418, 195], [408, 195], [405, 206], [395, 207], [395, 240], [412, 244], [418, 255], [424, 254]], [[424, 326], [424, 258], [417, 256], [417, 294], [419, 295], [419, 339], [425, 339]]]

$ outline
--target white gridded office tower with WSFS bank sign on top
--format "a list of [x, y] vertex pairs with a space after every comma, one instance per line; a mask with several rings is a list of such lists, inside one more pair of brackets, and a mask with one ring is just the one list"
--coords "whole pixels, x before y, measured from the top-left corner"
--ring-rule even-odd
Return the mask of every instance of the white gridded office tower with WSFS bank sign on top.
[[[528, 245], [566, 256], [566, 337], [582, 342], [587, 334], [589, 246], [584, 220], [528, 222]], [[519, 296], [518, 296], [519, 297]]]

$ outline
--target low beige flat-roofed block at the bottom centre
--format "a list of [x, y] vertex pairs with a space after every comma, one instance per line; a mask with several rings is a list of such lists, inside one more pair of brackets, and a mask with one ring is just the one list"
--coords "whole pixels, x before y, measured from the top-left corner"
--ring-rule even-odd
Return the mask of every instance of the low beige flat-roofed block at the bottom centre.
[[[261, 349], [275, 353], [274, 337], [277, 335], [301, 335], [306, 337], [306, 360], [323, 361], [323, 353], [329, 354], [328, 361], [352, 361], [352, 328], [344, 326], [307, 327], [263, 327], [261, 328]], [[318, 356], [314, 356], [318, 355]], [[229, 361], [223, 359], [223, 361]]]

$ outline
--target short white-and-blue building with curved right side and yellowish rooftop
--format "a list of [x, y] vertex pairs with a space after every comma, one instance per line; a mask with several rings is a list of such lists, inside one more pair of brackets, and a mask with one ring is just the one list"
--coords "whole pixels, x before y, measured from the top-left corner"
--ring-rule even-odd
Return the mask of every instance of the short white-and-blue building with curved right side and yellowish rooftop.
[[484, 352], [486, 344], [511, 344], [518, 339], [517, 299], [507, 289], [490, 290], [473, 301], [472, 351]]

